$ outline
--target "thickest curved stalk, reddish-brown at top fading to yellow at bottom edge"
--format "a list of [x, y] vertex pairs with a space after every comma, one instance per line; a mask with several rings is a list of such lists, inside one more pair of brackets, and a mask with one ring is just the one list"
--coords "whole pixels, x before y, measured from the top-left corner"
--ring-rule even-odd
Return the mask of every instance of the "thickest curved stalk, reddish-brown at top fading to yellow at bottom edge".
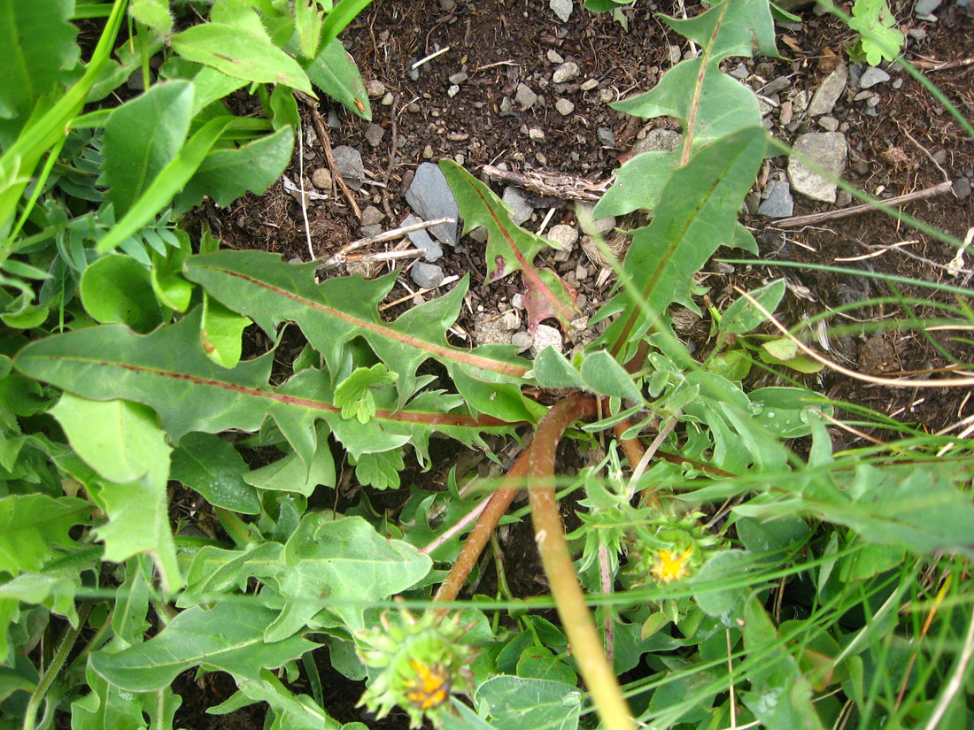
[[585, 604], [555, 498], [554, 459], [558, 441], [573, 421], [592, 418], [595, 413], [594, 398], [576, 395], [556, 403], [538, 426], [528, 459], [531, 520], [551, 595], [595, 709], [608, 730], [635, 730], [616, 672], [606, 659], [602, 640]]

